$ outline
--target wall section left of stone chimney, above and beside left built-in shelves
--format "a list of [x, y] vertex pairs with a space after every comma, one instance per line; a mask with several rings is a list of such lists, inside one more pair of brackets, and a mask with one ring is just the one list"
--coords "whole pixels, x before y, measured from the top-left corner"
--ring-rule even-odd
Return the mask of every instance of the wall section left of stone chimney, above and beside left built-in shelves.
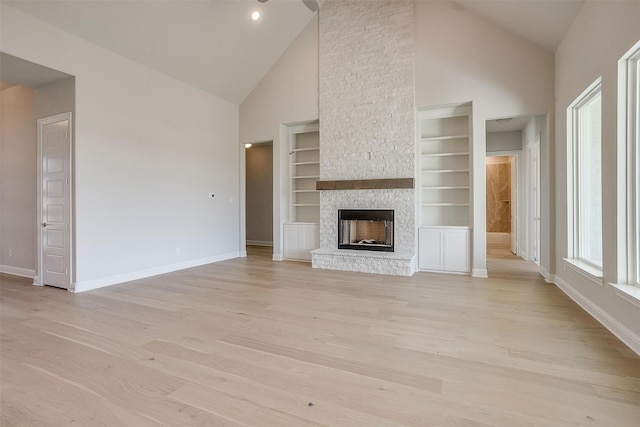
[[287, 220], [288, 133], [283, 124], [318, 120], [318, 17], [314, 17], [240, 105], [240, 143], [273, 141], [273, 256], [282, 259]]

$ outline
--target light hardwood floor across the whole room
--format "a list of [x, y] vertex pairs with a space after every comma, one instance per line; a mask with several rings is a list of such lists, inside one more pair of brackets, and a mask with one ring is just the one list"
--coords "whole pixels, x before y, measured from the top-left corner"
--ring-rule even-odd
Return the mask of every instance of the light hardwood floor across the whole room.
[[83, 294], [0, 275], [0, 425], [640, 425], [640, 358], [521, 260], [249, 253]]

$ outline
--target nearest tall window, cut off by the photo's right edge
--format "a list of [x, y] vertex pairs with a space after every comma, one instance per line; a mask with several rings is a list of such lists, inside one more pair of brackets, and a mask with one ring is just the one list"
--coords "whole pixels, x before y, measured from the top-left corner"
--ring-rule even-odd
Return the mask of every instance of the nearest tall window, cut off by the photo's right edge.
[[618, 282], [640, 286], [640, 42], [618, 63]]

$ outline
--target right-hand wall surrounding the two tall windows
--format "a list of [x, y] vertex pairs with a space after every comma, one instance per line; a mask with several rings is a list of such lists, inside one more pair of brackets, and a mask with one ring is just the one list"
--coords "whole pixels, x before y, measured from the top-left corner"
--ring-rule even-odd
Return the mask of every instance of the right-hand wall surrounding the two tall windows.
[[[617, 61], [640, 39], [640, 2], [585, 2], [556, 51], [556, 283], [640, 352], [640, 307], [609, 285], [617, 278], [616, 254], [616, 103]], [[599, 286], [568, 269], [567, 123], [571, 102], [602, 77], [602, 226], [604, 284]]]

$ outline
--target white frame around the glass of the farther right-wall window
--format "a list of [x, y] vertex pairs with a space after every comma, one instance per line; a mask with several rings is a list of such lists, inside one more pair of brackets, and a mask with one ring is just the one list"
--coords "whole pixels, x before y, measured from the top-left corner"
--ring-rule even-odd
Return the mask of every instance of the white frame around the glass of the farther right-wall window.
[[[594, 282], [602, 285], [602, 265], [584, 259], [581, 256], [580, 245], [580, 137], [581, 123], [579, 120], [580, 109], [590, 104], [596, 97], [600, 97], [602, 103], [602, 78], [599, 77], [591, 83], [568, 107], [567, 107], [567, 234], [568, 234], [568, 258], [566, 261], [572, 268]], [[600, 132], [602, 132], [602, 114], [600, 115]], [[602, 133], [600, 135], [600, 151], [602, 153]], [[600, 156], [600, 159], [602, 156]], [[602, 174], [602, 163], [600, 163]], [[602, 192], [602, 181], [600, 181]], [[600, 200], [600, 227], [602, 246], [602, 200]]]

